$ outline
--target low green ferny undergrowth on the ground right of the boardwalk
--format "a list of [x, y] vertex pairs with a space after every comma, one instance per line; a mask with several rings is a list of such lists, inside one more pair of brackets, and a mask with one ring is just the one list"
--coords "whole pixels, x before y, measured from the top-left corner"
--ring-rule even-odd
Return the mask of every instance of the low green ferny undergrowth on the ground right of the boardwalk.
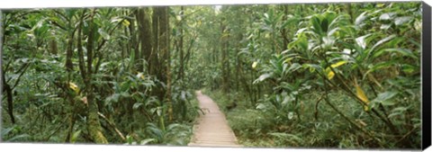
[[[229, 126], [238, 138], [238, 144], [249, 148], [377, 148], [377, 143], [363, 132], [356, 130], [329, 105], [318, 104], [319, 92], [304, 94], [300, 120], [293, 114], [291, 120], [278, 121], [280, 116], [272, 111], [263, 112], [247, 107], [248, 101], [228, 100], [220, 90], [204, 89], [220, 106], [229, 121]], [[233, 95], [233, 94], [230, 94]], [[383, 125], [375, 123], [370, 115], [356, 105], [347, 102], [345, 94], [329, 94], [331, 102], [337, 105], [348, 117], [364, 125], [368, 130], [383, 130]], [[233, 98], [232, 96], [230, 97]], [[228, 110], [226, 107], [237, 102], [238, 106]], [[287, 112], [289, 115], [290, 112]], [[317, 116], [317, 117], [315, 117]], [[372, 120], [372, 121], [368, 121]], [[385, 136], [378, 135], [376, 136]]]

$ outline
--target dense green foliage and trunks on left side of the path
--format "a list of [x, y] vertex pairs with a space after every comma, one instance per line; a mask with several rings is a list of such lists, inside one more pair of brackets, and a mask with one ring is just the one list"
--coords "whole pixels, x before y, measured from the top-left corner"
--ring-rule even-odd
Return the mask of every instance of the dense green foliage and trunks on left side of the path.
[[177, 68], [166, 59], [180, 58], [167, 56], [172, 13], [4, 11], [2, 139], [187, 144], [198, 109], [184, 79], [165, 74]]

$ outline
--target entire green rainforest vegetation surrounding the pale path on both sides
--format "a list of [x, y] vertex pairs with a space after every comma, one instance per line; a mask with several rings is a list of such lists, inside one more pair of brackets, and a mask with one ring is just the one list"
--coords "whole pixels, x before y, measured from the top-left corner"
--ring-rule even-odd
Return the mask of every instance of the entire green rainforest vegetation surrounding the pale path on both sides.
[[420, 148], [421, 3], [2, 10], [3, 142]]

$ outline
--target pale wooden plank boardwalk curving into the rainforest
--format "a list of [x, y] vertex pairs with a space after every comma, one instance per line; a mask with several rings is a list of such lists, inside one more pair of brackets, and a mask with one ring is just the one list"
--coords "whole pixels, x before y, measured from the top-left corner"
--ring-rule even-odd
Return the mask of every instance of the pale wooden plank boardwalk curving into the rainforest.
[[241, 147], [237, 144], [236, 135], [229, 128], [228, 121], [223, 112], [220, 112], [218, 105], [201, 91], [195, 94], [205, 114], [200, 115], [198, 124], [193, 126], [193, 139], [188, 146]]

